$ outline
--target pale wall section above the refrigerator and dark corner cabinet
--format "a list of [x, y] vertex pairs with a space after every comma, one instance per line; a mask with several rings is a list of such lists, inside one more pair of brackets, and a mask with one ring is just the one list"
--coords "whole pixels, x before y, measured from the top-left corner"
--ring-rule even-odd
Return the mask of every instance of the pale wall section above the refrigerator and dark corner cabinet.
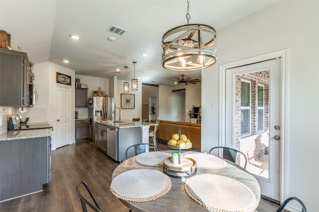
[[[79, 78], [81, 84], [86, 84], [88, 86], [88, 98], [93, 97], [93, 91], [101, 90], [106, 91], [106, 94], [109, 95], [109, 79], [94, 77], [94, 76], [84, 76], [75, 74], [75, 78]], [[109, 96], [111, 97], [111, 96]]]

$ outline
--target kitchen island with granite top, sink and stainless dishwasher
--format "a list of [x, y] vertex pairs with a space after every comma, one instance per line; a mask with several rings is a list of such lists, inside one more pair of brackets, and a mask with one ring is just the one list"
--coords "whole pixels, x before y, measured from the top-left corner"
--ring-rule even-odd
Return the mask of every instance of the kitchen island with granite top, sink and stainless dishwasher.
[[95, 138], [98, 139], [95, 141], [99, 149], [119, 162], [126, 160], [125, 152], [129, 146], [141, 142], [148, 143], [150, 126], [158, 125], [131, 120], [96, 121], [96, 123], [98, 130]]

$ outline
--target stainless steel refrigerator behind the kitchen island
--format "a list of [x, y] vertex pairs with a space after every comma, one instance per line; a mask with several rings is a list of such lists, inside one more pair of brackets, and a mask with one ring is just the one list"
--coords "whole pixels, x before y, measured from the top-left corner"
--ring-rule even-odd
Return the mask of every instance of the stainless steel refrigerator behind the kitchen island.
[[91, 119], [91, 135], [94, 138], [94, 124], [96, 121], [114, 120], [113, 110], [116, 107], [116, 99], [113, 97], [93, 97], [92, 108], [89, 108], [89, 118]]

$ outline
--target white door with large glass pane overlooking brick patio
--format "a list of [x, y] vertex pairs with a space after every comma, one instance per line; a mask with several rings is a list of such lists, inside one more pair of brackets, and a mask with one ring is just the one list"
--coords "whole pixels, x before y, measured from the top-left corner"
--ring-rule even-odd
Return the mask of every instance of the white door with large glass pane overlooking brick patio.
[[280, 201], [281, 59], [227, 69], [225, 86], [225, 145], [249, 157], [261, 194]]

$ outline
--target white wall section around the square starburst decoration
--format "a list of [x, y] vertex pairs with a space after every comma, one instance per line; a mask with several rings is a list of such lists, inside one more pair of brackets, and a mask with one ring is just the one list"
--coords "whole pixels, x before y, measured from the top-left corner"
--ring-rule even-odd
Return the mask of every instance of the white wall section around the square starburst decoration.
[[[124, 80], [117, 80], [116, 106], [121, 108], [121, 93], [123, 92]], [[131, 90], [132, 82], [130, 81], [130, 91], [128, 93], [135, 94], [135, 108], [121, 109], [122, 119], [132, 120], [133, 118], [142, 119], [142, 83], [138, 82], [138, 90]], [[116, 110], [116, 119], [119, 118], [119, 110]]]

